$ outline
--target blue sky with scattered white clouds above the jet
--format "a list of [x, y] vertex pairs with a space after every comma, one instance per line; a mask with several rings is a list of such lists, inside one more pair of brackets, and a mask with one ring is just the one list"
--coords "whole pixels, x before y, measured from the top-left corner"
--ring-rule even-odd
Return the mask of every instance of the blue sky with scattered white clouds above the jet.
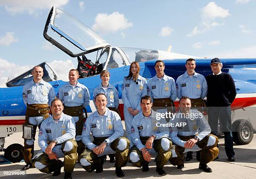
[[52, 5], [112, 46], [166, 51], [172, 45], [172, 52], [193, 56], [256, 57], [256, 0], [0, 0], [0, 84], [42, 61], [77, 66], [43, 37]]

